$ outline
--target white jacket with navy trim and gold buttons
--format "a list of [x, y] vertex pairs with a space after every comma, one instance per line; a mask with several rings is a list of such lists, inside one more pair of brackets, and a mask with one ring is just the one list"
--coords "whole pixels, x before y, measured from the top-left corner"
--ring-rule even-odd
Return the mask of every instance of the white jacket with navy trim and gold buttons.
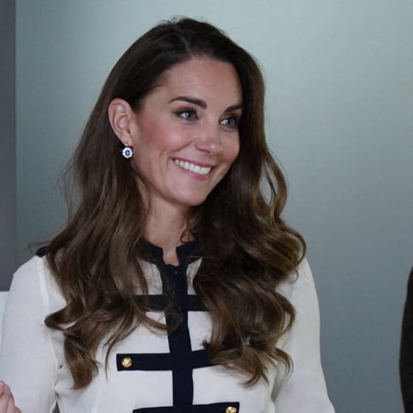
[[[200, 261], [185, 267], [185, 294], [194, 294], [192, 280]], [[162, 294], [160, 270], [153, 263], [144, 266], [150, 295]], [[100, 348], [98, 375], [88, 387], [71, 390], [63, 335], [43, 323], [46, 315], [62, 308], [65, 301], [46, 259], [35, 256], [19, 268], [11, 284], [4, 313], [0, 379], [10, 385], [23, 413], [53, 412], [56, 403], [61, 413], [333, 413], [320, 363], [318, 300], [307, 261], [300, 264], [298, 276], [291, 274], [280, 290], [296, 308], [293, 327], [278, 343], [292, 357], [290, 376], [280, 366], [278, 371], [270, 370], [268, 382], [260, 380], [243, 387], [245, 376], [207, 365], [199, 350], [211, 332], [209, 313], [189, 309], [187, 319], [184, 317], [187, 341], [183, 341], [184, 346], [189, 345], [185, 355], [179, 339], [173, 342], [165, 333], [140, 326], [110, 353], [107, 374], [105, 352]], [[164, 320], [163, 313], [150, 315]], [[178, 347], [171, 355], [173, 343]], [[192, 360], [192, 355], [197, 357]], [[161, 367], [155, 371], [147, 367], [152, 366], [151, 360]]]

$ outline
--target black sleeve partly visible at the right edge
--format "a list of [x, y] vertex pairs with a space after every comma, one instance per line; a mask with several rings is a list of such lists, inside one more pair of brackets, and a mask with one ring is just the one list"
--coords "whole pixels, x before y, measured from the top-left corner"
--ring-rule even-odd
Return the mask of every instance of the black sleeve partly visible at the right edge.
[[399, 373], [406, 412], [413, 412], [413, 268], [407, 283], [404, 303], [402, 339], [400, 342]]

